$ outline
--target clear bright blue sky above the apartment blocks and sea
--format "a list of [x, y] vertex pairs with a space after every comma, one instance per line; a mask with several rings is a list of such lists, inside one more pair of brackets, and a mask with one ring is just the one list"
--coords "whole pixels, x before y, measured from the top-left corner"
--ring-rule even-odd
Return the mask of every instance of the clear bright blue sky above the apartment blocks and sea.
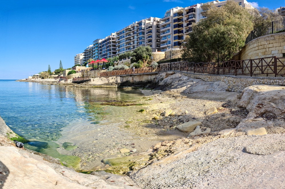
[[[95, 39], [105, 38], [146, 17], [201, 0], [0, 0], [0, 79], [24, 79], [41, 71], [74, 65]], [[254, 0], [254, 6], [285, 6], [284, 0]]]

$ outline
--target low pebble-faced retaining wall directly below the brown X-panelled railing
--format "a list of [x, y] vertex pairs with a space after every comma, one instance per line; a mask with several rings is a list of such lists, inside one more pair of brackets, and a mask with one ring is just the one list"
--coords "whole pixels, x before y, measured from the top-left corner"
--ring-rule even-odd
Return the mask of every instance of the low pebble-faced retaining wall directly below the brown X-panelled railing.
[[229, 91], [242, 92], [243, 89], [255, 84], [266, 85], [285, 85], [285, 78], [280, 77], [247, 77], [247, 76], [231, 76], [231, 75], [209, 75], [200, 73], [185, 73], [182, 71], [175, 71], [182, 73], [185, 76], [194, 79], [202, 79], [203, 81], [223, 81], [228, 85]]

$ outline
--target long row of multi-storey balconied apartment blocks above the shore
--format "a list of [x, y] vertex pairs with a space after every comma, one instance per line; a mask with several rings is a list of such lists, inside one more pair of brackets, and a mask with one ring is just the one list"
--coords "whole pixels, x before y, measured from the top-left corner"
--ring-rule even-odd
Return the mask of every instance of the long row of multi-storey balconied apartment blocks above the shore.
[[[246, 0], [235, 0], [240, 6], [254, 9]], [[225, 5], [227, 1], [210, 1], [217, 7]], [[208, 3], [210, 3], [208, 2]], [[149, 17], [112, 33], [104, 39], [97, 39], [84, 50], [83, 63], [89, 58], [94, 60], [117, 56], [121, 53], [133, 51], [139, 46], [150, 46], [152, 51], [178, 50], [186, 35], [192, 31], [192, 24], [204, 19], [202, 15], [203, 3], [188, 7], [174, 7], [168, 9], [163, 18]], [[284, 9], [284, 10], [283, 10]], [[280, 7], [284, 11], [285, 7]]]

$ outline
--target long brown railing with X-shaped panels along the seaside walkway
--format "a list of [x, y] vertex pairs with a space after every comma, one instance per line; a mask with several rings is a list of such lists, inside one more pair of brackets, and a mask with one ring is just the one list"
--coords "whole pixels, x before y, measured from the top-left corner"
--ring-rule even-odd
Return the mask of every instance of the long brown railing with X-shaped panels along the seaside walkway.
[[101, 72], [100, 76], [118, 76], [140, 73], [151, 73], [160, 71], [186, 71], [194, 73], [222, 74], [222, 75], [263, 75], [284, 77], [285, 76], [285, 57], [277, 58], [276, 56], [248, 59], [248, 60], [231, 60], [219, 63], [194, 63], [194, 62], [175, 62], [162, 64], [158, 66], [142, 67], [137, 69], [124, 69]]

